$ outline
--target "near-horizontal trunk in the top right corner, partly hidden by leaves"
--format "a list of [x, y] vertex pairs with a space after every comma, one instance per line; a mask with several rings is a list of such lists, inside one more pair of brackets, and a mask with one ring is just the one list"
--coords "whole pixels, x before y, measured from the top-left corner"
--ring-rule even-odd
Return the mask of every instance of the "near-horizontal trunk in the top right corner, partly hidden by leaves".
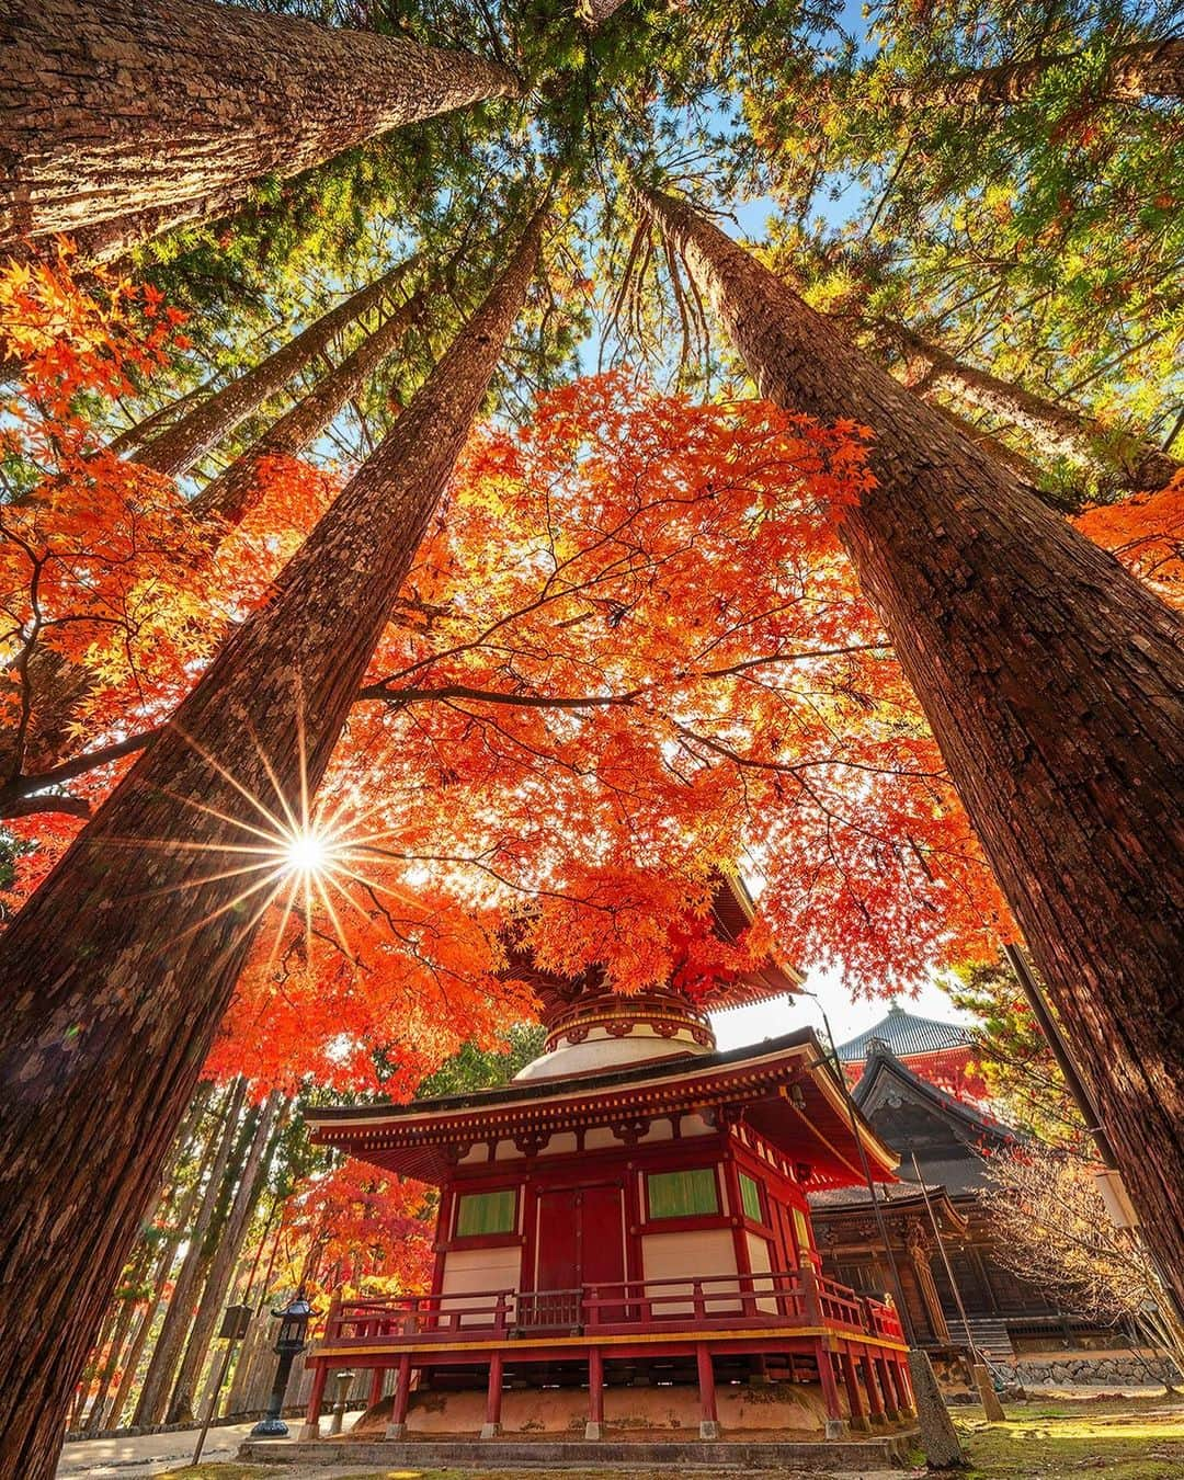
[[[1037, 56], [1030, 62], [1003, 62], [981, 71], [962, 73], [925, 87], [894, 87], [889, 93], [901, 108], [919, 104], [1000, 107], [1027, 102], [1058, 67], [1072, 67], [1076, 56]], [[1184, 98], [1184, 41], [1134, 41], [1110, 53], [1097, 96], [1113, 102], [1144, 98]]]

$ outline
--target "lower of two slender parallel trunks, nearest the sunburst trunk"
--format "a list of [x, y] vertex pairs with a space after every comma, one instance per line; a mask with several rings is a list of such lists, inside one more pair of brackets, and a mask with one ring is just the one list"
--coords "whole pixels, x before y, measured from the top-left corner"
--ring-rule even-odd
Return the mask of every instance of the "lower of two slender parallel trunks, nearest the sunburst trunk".
[[268, 457], [296, 457], [329, 426], [334, 416], [366, 386], [426, 303], [419, 290], [363, 339], [358, 348], [309, 391], [309, 394], [263, 432], [244, 453], [201, 490], [189, 508], [198, 519], [238, 524], [246, 518], [259, 488], [259, 469]]

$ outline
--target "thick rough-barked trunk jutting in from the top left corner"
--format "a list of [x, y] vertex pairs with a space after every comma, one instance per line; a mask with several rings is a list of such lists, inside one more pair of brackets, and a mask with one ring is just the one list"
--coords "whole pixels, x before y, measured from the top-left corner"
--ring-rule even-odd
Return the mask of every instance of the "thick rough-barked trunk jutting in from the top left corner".
[[265, 175], [519, 90], [468, 52], [204, 0], [28, 0], [4, 40], [0, 246], [98, 226], [102, 256], [225, 215]]

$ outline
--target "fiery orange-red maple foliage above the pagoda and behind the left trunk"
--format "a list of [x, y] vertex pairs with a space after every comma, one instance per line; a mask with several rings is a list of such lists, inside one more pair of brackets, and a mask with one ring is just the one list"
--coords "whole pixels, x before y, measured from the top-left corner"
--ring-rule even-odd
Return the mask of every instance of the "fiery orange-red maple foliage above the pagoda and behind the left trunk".
[[[0, 305], [28, 318], [38, 293], [53, 306], [56, 280]], [[339, 485], [274, 459], [212, 543], [173, 488], [90, 445], [78, 392], [110, 392], [127, 333], [96, 312], [41, 315], [19, 454], [43, 482], [0, 511], [4, 725], [36, 709], [30, 653], [59, 651], [92, 675], [77, 752], [167, 716]], [[691, 992], [768, 949], [854, 990], [993, 952], [1005, 909], [836, 537], [867, 477], [857, 428], [626, 371], [475, 434], [321, 787], [345, 864], [306, 913], [265, 918], [210, 1069], [410, 1094], [531, 1015], [511, 943]], [[99, 801], [127, 764], [71, 795]], [[78, 824], [10, 823], [36, 845], [18, 900]], [[761, 921], [728, 946], [707, 904], [737, 863]]]

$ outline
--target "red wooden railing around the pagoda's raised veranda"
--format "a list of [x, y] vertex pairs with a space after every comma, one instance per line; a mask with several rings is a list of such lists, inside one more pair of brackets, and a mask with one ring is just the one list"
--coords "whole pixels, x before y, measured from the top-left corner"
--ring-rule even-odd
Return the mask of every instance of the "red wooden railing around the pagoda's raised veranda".
[[889, 1307], [814, 1270], [619, 1280], [567, 1291], [471, 1291], [334, 1301], [327, 1345], [389, 1347], [459, 1336], [617, 1335], [636, 1331], [826, 1326], [901, 1341]]

